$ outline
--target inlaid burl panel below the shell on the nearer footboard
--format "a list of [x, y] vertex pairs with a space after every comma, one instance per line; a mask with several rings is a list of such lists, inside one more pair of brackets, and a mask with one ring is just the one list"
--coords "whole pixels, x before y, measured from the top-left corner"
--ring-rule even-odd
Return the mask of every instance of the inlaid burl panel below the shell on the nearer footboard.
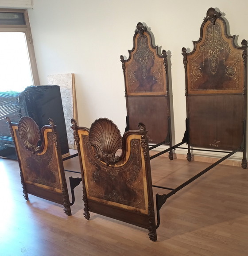
[[81, 140], [85, 152], [85, 184], [88, 198], [147, 213], [146, 177], [140, 161], [139, 139], [132, 139], [129, 161], [120, 167], [107, 167], [101, 163], [89, 149], [88, 136], [83, 136]]

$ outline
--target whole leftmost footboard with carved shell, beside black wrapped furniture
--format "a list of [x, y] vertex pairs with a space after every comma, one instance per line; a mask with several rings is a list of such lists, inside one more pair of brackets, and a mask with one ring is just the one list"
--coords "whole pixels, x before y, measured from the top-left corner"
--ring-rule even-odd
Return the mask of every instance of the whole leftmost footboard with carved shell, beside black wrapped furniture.
[[28, 194], [32, 194], [62, 204], [65, 213], [71, 215], [62, 155], [53, 120], [49, 119], [50, 125], [43, 126], [40, 132], [38, 124], [29, 116], [23, 116], [18, 124], [6, 118], [19, 162], [23, 197], [28, 200]]

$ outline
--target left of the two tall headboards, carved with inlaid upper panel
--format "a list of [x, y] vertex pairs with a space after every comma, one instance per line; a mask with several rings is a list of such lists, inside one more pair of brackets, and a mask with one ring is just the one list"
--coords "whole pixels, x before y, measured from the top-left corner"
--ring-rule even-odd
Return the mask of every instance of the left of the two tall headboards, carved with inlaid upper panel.
[[171, 112], [167, 52], [158, 53], [147, 27], [138, 23], [129, 58], [120, 56], [125, 82], [127, 129], [146, 124], [149, 143], [170, 145]]

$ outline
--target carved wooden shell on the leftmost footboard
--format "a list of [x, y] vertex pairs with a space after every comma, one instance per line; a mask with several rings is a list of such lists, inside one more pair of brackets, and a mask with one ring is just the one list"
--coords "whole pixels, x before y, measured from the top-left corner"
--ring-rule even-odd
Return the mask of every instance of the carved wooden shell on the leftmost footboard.
[[33, 154], [41, 150], [39, 145], [41, 141], [39, 126], [31, 117], [23, 116], [19, 120], [18, 133], [27, 150]]

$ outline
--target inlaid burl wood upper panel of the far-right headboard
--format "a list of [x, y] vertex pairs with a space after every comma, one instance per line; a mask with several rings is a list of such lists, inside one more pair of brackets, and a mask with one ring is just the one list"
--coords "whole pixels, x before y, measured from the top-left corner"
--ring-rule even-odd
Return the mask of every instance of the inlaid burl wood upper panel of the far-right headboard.
[[188, 93], [243, 93], [243, 49], [227, 37], [225, 21], [208, 20], [192, 55], [188, 55]]

